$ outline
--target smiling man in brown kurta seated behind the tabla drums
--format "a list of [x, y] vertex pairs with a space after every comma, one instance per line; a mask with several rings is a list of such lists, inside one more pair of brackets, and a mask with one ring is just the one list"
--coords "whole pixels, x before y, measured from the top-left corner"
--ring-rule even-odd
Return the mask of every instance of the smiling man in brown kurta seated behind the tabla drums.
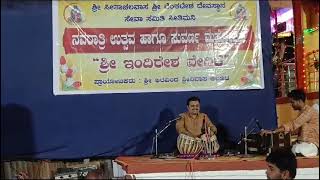
[[[177, 120], [176, 129], [179, 134], [185, 134], [195, 139], [203, 141], [216, 141], [214, 152], [219, 150], [219, 145], [216, 140], [217, 128], [210, 121], [205, 113], [200, 113], [200, 99], [198, 97], [190, 97], [187, 100], [188, 112], [180, 114], [180, 119]], [[206, 134], [208, 136], [206, 136]]]

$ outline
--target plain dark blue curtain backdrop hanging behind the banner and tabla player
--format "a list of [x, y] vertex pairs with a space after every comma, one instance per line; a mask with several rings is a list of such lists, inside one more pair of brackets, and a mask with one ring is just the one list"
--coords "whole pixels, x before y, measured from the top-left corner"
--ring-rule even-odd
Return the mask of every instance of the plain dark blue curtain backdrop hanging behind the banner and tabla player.
[[[263, 90], [66, 96], [53, 95], [51, 2], [2, 3], [2, 159], [150, 154], [155, 129], [186, 111], [189, 96], [201, 98], [224, 149], [252, 118], [276, 127], [268, 1], [260, 1]], [[159, 137], [159, 152], [175, 151], [176, 138], [173, 124]]]

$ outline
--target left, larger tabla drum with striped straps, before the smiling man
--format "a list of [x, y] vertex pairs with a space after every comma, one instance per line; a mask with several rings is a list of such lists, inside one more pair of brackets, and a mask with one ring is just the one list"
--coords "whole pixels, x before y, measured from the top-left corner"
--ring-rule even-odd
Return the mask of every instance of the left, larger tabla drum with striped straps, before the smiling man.
[[177, 148], [180, 154], [197, 154], [202, 151], [202, 142], [185, 134], [180, 134], [177, 139]]

